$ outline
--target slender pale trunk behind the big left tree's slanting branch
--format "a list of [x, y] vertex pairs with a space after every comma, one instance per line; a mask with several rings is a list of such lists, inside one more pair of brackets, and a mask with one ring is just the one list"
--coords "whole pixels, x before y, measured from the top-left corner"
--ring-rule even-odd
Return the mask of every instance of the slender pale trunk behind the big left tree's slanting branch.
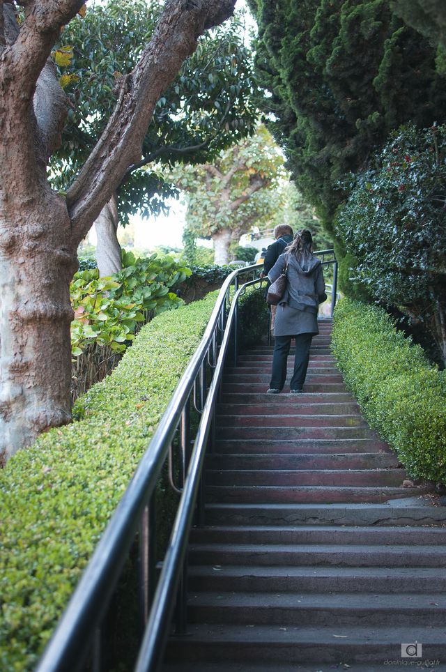
[[107, 205], [102, 208], [95, 220], [98, 245], [96, 246], [96, 261], [98, 262], [99, 277], [109, 277], [118, 273], [122, 268], [121, 245], [118, 243], [118, 199], [112, 196]]

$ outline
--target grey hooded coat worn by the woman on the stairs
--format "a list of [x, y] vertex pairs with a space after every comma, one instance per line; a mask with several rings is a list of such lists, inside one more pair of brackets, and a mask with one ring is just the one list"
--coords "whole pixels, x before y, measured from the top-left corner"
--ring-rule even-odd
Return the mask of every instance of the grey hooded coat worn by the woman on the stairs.
[[284, 252], [268, 273], [270, 282], [281, 275], [288, 257], [286, 291], [277, 307], [274, 323], [276, 336], [318, 334], [318, 307], [327, 298], [321, 260], [311, 254], [307, 259]]

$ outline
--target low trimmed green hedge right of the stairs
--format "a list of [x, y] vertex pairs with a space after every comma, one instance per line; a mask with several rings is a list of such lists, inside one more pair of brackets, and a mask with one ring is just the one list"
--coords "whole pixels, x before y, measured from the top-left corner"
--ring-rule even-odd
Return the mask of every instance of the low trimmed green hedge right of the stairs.
[[446, 484], [446, 371], [385, 310], [353, 300], [337, 305], [332, 347], [365, 418], [408, 473]]

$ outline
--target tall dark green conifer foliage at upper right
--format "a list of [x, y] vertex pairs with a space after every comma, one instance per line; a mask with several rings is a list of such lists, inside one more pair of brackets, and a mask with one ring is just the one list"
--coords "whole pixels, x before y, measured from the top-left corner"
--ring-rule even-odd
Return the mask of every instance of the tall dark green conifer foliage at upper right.
[[436, 48], [387, 0], [249, 5], [259, 24], [256, 70], [268, 92], [259, 105], [298, 188], [330, 227], [344, 198], [339, 179], [362, 169], [401, 123], [445, 118]]

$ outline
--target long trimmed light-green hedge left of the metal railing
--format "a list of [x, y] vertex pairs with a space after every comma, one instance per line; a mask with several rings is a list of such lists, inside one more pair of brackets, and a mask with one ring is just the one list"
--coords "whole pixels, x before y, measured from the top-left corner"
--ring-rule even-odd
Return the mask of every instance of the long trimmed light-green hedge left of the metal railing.
[[33, 668], [197, 344], [215, 294], [142, 328], [114, 372], [0, 473], [0, 669]]

